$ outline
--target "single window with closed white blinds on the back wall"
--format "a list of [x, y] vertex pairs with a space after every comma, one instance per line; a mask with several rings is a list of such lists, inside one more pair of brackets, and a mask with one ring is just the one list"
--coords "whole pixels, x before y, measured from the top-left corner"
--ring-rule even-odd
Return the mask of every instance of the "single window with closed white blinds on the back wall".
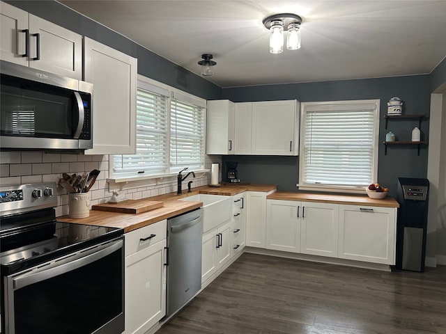
[[378, 166], [379, 100], [304, 102], [299, 186], [361, 188]]

